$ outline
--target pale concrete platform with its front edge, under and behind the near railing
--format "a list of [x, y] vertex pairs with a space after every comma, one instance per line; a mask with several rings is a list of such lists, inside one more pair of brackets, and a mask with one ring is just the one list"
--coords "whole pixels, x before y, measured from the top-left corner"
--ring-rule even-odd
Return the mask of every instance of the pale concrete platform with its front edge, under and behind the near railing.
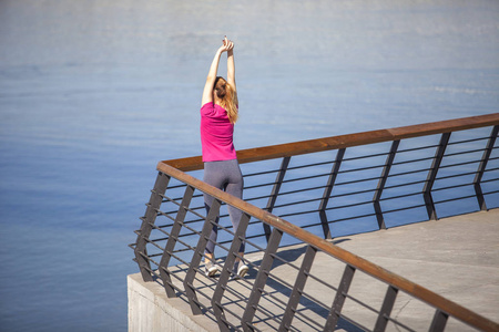
[[[499, 209], [336, 238], [334, 242], [492, 321], [499, 321]], [[298, 245], [282, 248], [278, 256], [299, 268], [304, 252], [305, 247]], [[262, 257], [262, 253], [247, 256], [256, 266]], [[343, 262], [318, 253], [310, 272], [337, 286], [344, 268]], [[179, 267], [175, 272], [179, 287], [184, 273], [185, 269]], [[297, 272], [293, 267], [277, 262], [272, 273], [276, 278], [271, 279], [265, 287], [267, 293], [254, 320], [255, 328], [261, 331], [275, 331], [278, 328], [273, 318], [278, 320], [282, 317], [291, 293], [288, 284], [294, 283]], [[228, 282], [224, 305], [230, 311], [240, 314], [244, 310], [255, 277], [256, 271], [251, 271], [245, 280]], [[198, 277], [195, 283], [205, 294], [200, 294], [200, 301], [210, 308], [216, 279]], [[308, 295], [301, 301], [298, 315], [293, 320], [291, 330], [320, 330], [327, 315], [324, 307], [330, 307], [335, 293], [310, 279], [304, 291]], [[386, 284], [360, 271], [355, 272], [349, 291], [352, 297], [379, 309], [385, 292]], [[313, 304], [310, 297], [325, 305]], [[367, 329], [374, 328], [376, 314], [361, 309], [355, 301], [347, 299], [342, 312]], [[397, 320], [415, 331], [427, 331], [432, 314], [430, 307], [404, 293], [398, 294], [393, 310]], [[241, 328], [235, 318], [228, 312], [226, 315], [236, 329]], [[170, 322], [172, 319], [180, 323]], [[154, 325], [154, 321], [162, 323]], [[169, 324], [166, 330], [165, 324]], [[129, 276], [129, 331], [216, 330], [218, 328], [212, 314], [192, 317], [185, 299], [167, 299], [160, 282], [144, 283], [139, 274]], [[361, 330], [342, 320], [338, 331]], [[389, 324], [387, 331], [399, 331], [399, 326]], [[475, 330], [450, 319], [447, 331]]]

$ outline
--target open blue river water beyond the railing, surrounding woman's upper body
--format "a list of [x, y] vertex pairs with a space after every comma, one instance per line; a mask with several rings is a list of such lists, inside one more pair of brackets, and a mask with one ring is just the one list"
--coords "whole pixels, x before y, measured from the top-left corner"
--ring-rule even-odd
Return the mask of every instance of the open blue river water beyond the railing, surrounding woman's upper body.
[[238, 149], [499, 108], [498, 1], [0, 0], [1, 331], [126, 330], [126, 245], [157, 160], [201, 152], [225, 34]]

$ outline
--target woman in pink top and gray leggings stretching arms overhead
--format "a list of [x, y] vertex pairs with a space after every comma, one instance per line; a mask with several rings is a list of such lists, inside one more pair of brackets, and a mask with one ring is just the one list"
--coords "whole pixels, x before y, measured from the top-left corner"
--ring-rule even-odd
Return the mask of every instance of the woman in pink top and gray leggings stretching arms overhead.
[[[227, 52], [227, 80], [217, 76], [218, 62], [222, 53]], [[213, 59], [201, 101], [201, 145], [204, 162], [203, 180], [208, 185], [225, 190], [237, 197], [243, 197], [243, 175], [237, 163], [233, 144], [234, 124], [237, 121], [237, 92], [235, 84], [234, 43], [226, 37]], [[213, 203], [213, 197], [204, 195], [206, 210]], [[235, 232], [241, 220], [242, 211], [228, 206], [228, 215]], [[217, 222], [218, 220], [216, 220]], [[205, 249], [206, 276], [214, 277], [217, 272], [214, 249], [218, 228], [213, 226], [210, 241]], [[240, 248], [240, 256], [244, 255], [244, 242]], [[234, 274], [244, 277], [248, 267], [236, 257]]]

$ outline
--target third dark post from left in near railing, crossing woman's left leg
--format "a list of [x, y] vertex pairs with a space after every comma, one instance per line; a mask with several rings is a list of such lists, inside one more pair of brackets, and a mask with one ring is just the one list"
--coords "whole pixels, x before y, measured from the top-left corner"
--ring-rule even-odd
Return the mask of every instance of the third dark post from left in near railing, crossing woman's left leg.
[[221, 201], [214, 198], [212, 206], [210, 207], [210, 211], [206, 216], [206, 220], [204, 221], [203, 230], [201, 231], [196, 250], [194, 251], [194, 255], [191, 259], [191, 263], [189, 264], [187, 273], [185, 274], [184, 279], [184, 289], [185, 293], [187, 294], [189, 304], [191, 304], [193, 314], [203, 313], [201, 310], [201, 303], [197, 300], [196, 290], [194, 287], [194, 278], [196, 277], [196, 270], [200, 267], [201, 259], [204, 256], [206, 243], [210, 240], [210, 234], [213, 229], [213, 224], [215, 224], [218, 218], [220, 206]]

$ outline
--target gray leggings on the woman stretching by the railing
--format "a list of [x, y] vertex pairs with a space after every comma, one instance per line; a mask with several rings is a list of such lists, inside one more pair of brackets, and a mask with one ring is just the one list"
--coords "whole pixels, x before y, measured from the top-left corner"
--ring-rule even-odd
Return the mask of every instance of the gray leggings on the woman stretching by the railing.
[[[240, 164], [237, 159], [221, 160], [221, 162], [207, 162], [204, 163], [204, 176], [203, 180], [216, 187], [225, 190], [237, 198], [243, 198], [243, 175], [241, 174]], [[213, 203], [213, 197], [204, 194], [204, 206], [206, 207], [206, 215], [210, 212], [210, 207]], [[228, 216], [231, 217], [233, 231], [237, 230], [240, 226], [241, 216], [243, 212], [230, 205], [227, 205]], [[218, 218], [216, 219], [218, 224]], [[218, 227], [213, 226], [213, 230], [210, 234], [210, 241], [206, 245], [205, 252], [213, 253], [215, 250], [215, 241], [218, 235]], [[241, 243], [240, 252], [244, 252], [244, 242]]]

